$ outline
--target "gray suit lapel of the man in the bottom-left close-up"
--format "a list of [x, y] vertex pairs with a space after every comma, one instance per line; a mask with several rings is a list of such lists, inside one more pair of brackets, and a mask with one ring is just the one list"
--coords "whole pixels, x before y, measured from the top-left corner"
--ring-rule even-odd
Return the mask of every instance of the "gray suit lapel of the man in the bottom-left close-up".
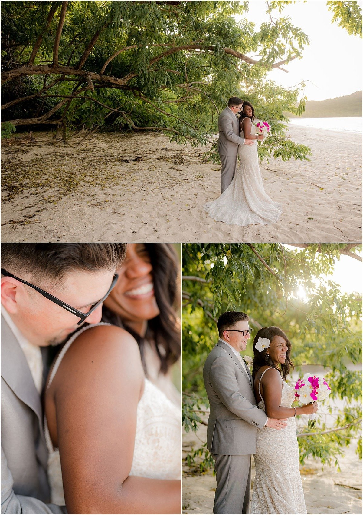
[[[1, 317], [1, 375], [8, 386], [15, 393], [16, 397], [31, 408], [38, 417], [40, 438], [46, 448], [43, 431], [43, 410], [37, 388], [35, 388], [28, 363], [24, 353], [15, 338], [13, 332]], [[46, 463], [46, 452], [44, 453], [40, 444], [39, 458]]]

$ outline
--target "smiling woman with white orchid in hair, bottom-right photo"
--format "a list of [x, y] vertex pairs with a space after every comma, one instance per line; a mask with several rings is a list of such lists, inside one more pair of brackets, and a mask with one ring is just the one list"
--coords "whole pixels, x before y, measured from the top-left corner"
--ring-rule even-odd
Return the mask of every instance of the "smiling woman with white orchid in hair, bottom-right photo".
[[[265, 338], [262, 350], [256, 349], [259, 338]], [[291, 342], [278, 327], [260, 329], [253, 340], [257, 405], [268, 417], [287, 419], [287, 426], [281, 436], [266, 426], [257, 430], [251, 513], [306, 513], [294, 417], [316, 413], [318, 404], [291, 407], [295, 392], [285, 382], [294, 369], [290, 354]]]

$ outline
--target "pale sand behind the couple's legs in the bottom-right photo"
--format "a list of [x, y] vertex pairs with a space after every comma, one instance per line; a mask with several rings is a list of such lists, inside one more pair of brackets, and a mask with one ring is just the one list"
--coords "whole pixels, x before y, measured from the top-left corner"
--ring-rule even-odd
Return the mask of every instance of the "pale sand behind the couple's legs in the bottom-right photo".
[[[194, 433], [183, 434], [183, 456], [191, 447], [197, 449], [206, 441], [206, 427], [202, 426], [197, 436]], [[339, 459], [341, 472], [335, 467], [321, 469], [318, 460], [309, 458], [300, 466], [307, 513], [355, 513], [362, 512], [361, 461], [355, 453], [356, 441], [345, 450], [345, 456]], [[252, 485], [255, 477], [255, 464], [252, 458]], [[192, 475], [184, 467], [182, 482], [182, 513], [213, 513], [215, 477], [212, 471], [202, 475]]]

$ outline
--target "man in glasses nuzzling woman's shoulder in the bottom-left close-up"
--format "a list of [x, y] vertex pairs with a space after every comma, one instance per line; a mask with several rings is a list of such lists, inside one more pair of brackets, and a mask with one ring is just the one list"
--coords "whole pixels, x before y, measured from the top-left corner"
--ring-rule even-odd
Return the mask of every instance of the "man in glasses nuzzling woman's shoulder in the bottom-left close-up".
[[66, 513], [49, 504], [46, 355], [80, 319], [101, 320], [125, 245], [8, 243], [1, 250], [1, 512]]

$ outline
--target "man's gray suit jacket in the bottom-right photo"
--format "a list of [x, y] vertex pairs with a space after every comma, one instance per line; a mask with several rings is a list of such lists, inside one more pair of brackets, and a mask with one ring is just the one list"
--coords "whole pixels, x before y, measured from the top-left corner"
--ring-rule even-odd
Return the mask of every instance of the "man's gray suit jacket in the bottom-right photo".
[[256, 452], [257, 427], [267, 415], [256, 406], [252, 376], [222, 340], [209, 353], [203, 368], [210, 414], [207, 447], [212, 454]]

